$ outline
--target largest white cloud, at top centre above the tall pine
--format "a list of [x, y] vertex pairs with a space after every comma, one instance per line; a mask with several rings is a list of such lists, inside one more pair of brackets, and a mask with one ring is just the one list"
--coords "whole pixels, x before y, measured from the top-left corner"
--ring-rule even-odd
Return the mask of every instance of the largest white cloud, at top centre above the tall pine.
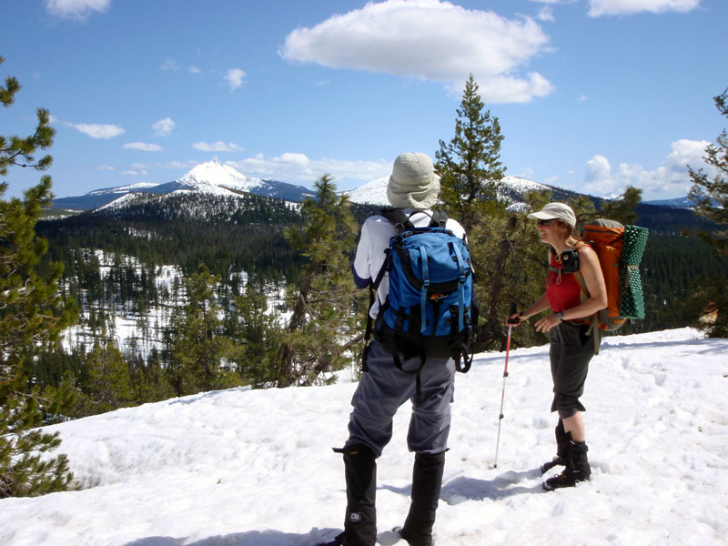
[[415, 77], [460, 88], [471, 73], [488, 102], [526, 102], [552, 90], [540, 74], [519, 73], [547, 51], [549, 36], [530, 17], [508, 19], [440, 0], [387, 0], [298, 28], [278, 54], [291, 63]]

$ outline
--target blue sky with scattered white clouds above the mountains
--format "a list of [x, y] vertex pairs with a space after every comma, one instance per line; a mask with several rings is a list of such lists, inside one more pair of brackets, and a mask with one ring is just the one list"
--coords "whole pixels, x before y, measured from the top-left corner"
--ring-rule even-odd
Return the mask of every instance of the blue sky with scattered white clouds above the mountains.
[[[164, 183], [218, 157], [340, 189], [450, 140], [472, 73], [508, 175], [681, 197], [724, 126], [725, 0], [3, 0], [0, 76], [57, 129], [57, 197]], [[8, 195], [39, 174], [11, 169]]]

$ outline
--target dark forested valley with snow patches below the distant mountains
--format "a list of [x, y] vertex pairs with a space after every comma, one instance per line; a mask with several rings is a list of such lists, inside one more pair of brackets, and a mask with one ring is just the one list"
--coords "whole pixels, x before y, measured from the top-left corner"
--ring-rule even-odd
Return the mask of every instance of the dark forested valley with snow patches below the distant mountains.
[[[59, 286], [76, 301], [79, 322], [64, 344], [37, 359], [35, 377], [56, 388], [73, 378], [84, 393], [73, 417], [198, 389], [274, 385], [293, 305], [286, 287], [297, 285], [307, 261], [284, 236], [304, 224], [298, 208], [252, 195], [147, 196], [39, 222], [37, 233], [49, 242], [45, 258], [64, 265]], [[351, 209], [360, 225], [378, 207]], [[619, 333], [682, 327], [696, 281], [728, 277], [728, 260], [682, 235], [706, 226], [692, 211], [640, 205], [637, 212], [636, 224], [651, 230], [641, 268], [646, 317]], [[515, 271], [511, 278], [519, 282]], [[363, 329], [361, 308], [359, 319]], [[532, 336], [523, 343], [545, 342]], [[185, 360], [197, 353], [227, 364], [210, 362], [207, 378], [183, 379], [194, 368]]]

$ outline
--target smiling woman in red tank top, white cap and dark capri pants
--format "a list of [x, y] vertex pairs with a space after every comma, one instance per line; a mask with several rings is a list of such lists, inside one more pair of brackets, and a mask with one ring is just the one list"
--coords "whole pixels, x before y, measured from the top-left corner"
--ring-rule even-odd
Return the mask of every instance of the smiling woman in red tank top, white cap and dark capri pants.
[[[544, 489], [554, 490], [589, 480], [591, 475], [581, 419], [585, 408], [579, 397], [583, 394], [595, 347], [588, 334], [589, 326], [581, 319], [607, 307], [607, 292], [596, 253], [588, 245], [577, 246], [581, 237], [571, 207], [564, 203], [549, 203], [529, 217], [538, 220], [541, 241], [550, 246], [551, 271], [541, 298], [525, 311], [512, 315], [511, 321], [517, 324], [542, 311], [550, 311], [534, 326], [537, 331], [551, 332], [549, 357], [554, 392], [551, 411], [559, 413], [555, 431], [557, 454], [541, 466], [541, 471], [546, 472], [556, 465], [566, 467], [558, 476], [544, 481]], [[565, 262], [571, 264], [571, 268], [564, 268]], [[588, 297], [582, 298], [581, 288], [570, 273], [574, 270], [581, 272], [589, 287]]]

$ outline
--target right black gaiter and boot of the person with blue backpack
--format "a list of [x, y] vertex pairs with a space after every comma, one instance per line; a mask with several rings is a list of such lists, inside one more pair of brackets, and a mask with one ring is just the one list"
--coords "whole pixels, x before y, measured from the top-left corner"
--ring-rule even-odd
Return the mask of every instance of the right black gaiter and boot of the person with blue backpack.
[[440, 500], [445, 451], [437, 455], [417, 453], [412, 469], [412, 501], [410, 513], [399, 536], [410, 546], [432, 546], [432, 527]]

